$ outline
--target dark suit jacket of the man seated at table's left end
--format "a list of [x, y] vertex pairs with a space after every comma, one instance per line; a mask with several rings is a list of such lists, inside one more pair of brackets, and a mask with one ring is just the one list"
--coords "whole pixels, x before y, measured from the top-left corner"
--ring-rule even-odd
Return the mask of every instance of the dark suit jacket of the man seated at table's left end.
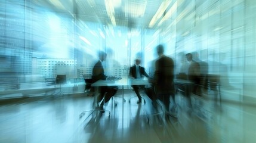
[[99, 60], [92, 69], [92, 83], [97, 82], [97, 80], [106, 80], [107, 76], [104, 74], [104, 69]]

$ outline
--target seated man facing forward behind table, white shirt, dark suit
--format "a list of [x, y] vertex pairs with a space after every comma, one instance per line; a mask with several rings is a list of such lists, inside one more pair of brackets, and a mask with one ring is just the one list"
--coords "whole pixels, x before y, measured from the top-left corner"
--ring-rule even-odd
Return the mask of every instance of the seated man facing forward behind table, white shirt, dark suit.
[[[136, 59], [134, 66], [129, 68], [129, 77], [133, 79], [140, 79], [143, 76], [149, 77], [149, 75], [146, 73], [144, 67], [140, 66], [140, 60]], [[132, 88], [134, 89], [134, 92], [136, 93], [138, 97], [137, 104], [141, 103], [141, 95], [138, 91], [140, 88], [145, 88], [145, 85], [132, 85]]]

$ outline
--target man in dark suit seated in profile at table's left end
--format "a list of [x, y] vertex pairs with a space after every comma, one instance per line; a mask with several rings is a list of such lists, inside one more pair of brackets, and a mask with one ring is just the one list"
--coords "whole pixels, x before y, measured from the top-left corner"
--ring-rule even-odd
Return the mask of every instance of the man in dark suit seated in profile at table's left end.
[[[99, 52], [99, 60], [92, 69], [92, 83], [97, 82], [98, 80], [106, 80], [107, 76], [104, 74], [104, 69], [102, 62], [106, 60], [107, 54], [105, 52]], [[111, 97], [113, 97], [118, 91], [118, 86], [101, 86], [100, 95], [98, 96], [97, 102], [103, 100], [104, 95], [105, 99], [100, 104], [100, 109], [103, 110], [104, 103], [108, 102]]]

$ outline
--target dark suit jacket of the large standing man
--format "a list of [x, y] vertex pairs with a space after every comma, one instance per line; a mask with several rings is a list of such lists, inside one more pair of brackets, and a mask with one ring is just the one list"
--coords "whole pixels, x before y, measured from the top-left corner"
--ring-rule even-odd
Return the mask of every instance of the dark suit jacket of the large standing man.
[[154, 81], [157, 94], [175, 94], [174, 61], [163, 55], [155, 63]]

